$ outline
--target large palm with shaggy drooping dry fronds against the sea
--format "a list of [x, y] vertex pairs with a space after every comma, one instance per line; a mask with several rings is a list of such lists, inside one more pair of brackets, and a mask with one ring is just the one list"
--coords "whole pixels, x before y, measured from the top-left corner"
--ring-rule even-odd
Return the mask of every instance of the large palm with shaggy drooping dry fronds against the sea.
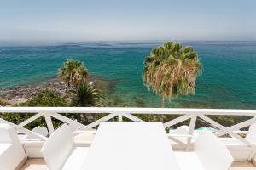
[[165, 107], [165, 99], [194, 94], [195, 80], [200, 73], [201, 62], [193, 48], [165, 42], [145, 58], [143, 83], [148, 90], [161, 95], [161, 106]]

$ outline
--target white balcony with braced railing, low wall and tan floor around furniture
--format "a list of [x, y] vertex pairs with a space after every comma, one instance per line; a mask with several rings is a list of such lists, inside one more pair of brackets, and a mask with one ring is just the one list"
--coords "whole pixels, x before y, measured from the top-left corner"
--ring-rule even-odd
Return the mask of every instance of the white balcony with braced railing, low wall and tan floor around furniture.
[[[54, 126], [53, 120], [66, 123], [68, 127], [72, 129], [74, 144], [77, 147], [90, 148], [91, 144], [94, 142], [95, 135], [98, 133], [98, 127], [102, 122], [145, 122], [142, 115], [176, 116], [176, 118], [172, 118], [172, 120], [163, 122], [163, 127], [166, 129], [166, 137], [174, 152], [192, 152], [197, 136], [204, 130], [207, 130], [195, 128], [196, 123], [199, 121], [205, 122], [209, 127], [212, 127], [213, 130], [211, 130], [211, 133], [217, 136], [219, 141], [225, 144], [226, 148], [230, 151], [234, 159], [230, 169], [256, 169], [253, 166], [256, 161], [256, 128], [253, 128], [256, 122], [256, 118], [254, 117], [256, 116], [255, 110], [1, 107], [0, 112], [3, 114], [33, 114], [19, 124], [14, 124], [13, 122], [8, 122], [0, 118], [0, 122], [7, 123], [11, 127], [14, 127], [15, 131], [18, 133], [19, 142], [25, 150], [27, 157], [27, 159], [20, 162], [19, 168], [21, 169], [47, 169], [40, 150], [45, 141], [51, 138], [51, 135], [58, 129], [58, 127]], [[95, 114], [99, 116], [99, 118], [95, 122], [84, 125], [68, 118], [65, 116], [65, 113]], [[36, 121], [42, 116], [46, 122], [46, 133], [26, 128], [26, 125]], [[243, 122], [234, 123], [230, 127], [224, 127], [224, 125], [214, 121], [212, 116], [245, 116], [246, 119]], [[187, 122], [188, 127], [183, 127], [180, 131], [176, 130], [181, 122]]]

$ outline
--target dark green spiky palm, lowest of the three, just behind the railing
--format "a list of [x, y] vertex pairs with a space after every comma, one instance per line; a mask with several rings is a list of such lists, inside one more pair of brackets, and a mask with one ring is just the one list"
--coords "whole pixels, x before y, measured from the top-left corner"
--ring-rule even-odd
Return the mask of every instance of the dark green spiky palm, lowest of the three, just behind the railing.
[[[70, 90], [71, 105], [79, 107], [102, 107], [103, 96], [101, 92], [94, 88], [91, 83], [80, 84], [76, 89]], [[93, 116], [90, 114], [80, 114], [81, 122], [92, 122]]]

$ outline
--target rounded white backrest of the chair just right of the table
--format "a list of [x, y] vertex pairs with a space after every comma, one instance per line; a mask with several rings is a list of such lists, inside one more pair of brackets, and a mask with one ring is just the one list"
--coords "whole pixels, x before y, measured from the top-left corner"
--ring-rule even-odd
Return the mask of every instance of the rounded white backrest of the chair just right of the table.
[[210, 132], [201, 132], [198, 136], [195, 154], [207, 170], [228, 170], [233, 161], [230, 151]]

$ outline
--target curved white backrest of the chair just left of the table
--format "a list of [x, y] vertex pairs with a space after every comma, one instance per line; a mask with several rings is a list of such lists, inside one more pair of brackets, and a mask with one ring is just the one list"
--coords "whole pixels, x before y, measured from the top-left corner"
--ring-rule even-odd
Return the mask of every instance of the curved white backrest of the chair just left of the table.
[[70, 127], [63, 124], [44, 143], [41, 150], [49, 170], [60, 170], [74, 149]]

